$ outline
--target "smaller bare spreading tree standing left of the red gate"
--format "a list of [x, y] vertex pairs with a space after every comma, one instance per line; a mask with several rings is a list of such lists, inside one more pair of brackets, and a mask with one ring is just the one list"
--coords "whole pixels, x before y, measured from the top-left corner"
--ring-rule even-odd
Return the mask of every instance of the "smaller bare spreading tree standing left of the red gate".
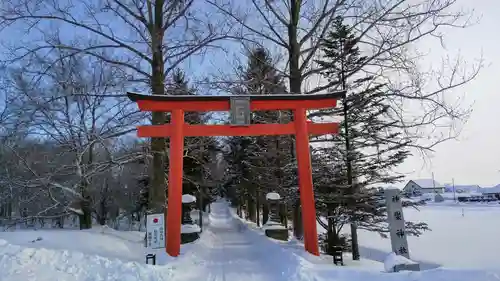
[[[113, 168], [144, 157], [142, 152], [115, 152], [116, 139], [134, 132], [145, 116], [126, 97], [113, 96], [123, 91], [122, 69], [88, 55], [68, 56], [64, 50], [54, 56], [37, 59], [38, 70], [48, 69], [38, 83], [32, 82], [41, 75], [33, 62], [12, 70], [8, 110], [16, 113], [20, 127], [28, 128], [29, 138], [50, 147], [38, 152], [39, 158], [27, 158], [9, 146], [31, 174], [31, 180], [16, 184], [46, 192], [52, 203], [80, 215], [81, 228], [90, 228], [92, 193], [106, 189], [96, 177], [109, 177]], [[65, 200], [54, 192], [63, 193]]]

